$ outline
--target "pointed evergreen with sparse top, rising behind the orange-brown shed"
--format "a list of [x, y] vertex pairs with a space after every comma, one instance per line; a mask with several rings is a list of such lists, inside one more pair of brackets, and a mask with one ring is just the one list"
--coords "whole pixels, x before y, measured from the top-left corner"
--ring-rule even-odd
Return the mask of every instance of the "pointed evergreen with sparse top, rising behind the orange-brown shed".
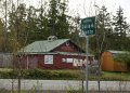
[[123, 11], [122, 9], [119, 6], [119, 9], [117, 10], [117, 15], [114, 16], [114, 37], [113, 37], [113, 45], [114, 45], [114, 50], [126, 50], [126, 44], [125, 41], [127, 40], [126, 37], [126, 31], [129, 28], [129, 25], [126, 22], [126, 17], [123, 17]]

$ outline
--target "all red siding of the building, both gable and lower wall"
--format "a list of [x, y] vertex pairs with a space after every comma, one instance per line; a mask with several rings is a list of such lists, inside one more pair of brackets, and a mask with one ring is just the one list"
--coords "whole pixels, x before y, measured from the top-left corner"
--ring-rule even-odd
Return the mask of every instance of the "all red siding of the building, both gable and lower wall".
[[[80, 48], [72, 43], [72, 41], [68, 41], [67, 43], [63, 43], [60, 46], [55, 48], [51, 52], [58, 51], [58, 52], [72, 52], [72, 53], [83, 53], [83, 51], [80, 51]], [[74, 53], [74, 54], [75, 54]], [[69, 58], [77, 58], [84, 61], [86, 56], [79, 55], [62, 55], [62, 54], [49, 54], [53, 55], [53, 64], [44, 64], [44, 55], [48, 54], [29, 54], [27, 56], [23, 57], [22, 68], [39, 68], [39, 69], [76, 69], [77, 67], [74, 66], [72, 63], [63, 63], [62, 59], [69, 59]], [[93, 62], [93, 56], [89, 56], [90, 65]], [[84, 66], [84, 65], [83, 65]], [[78, 66], [80, 68], [80, 66]]]

